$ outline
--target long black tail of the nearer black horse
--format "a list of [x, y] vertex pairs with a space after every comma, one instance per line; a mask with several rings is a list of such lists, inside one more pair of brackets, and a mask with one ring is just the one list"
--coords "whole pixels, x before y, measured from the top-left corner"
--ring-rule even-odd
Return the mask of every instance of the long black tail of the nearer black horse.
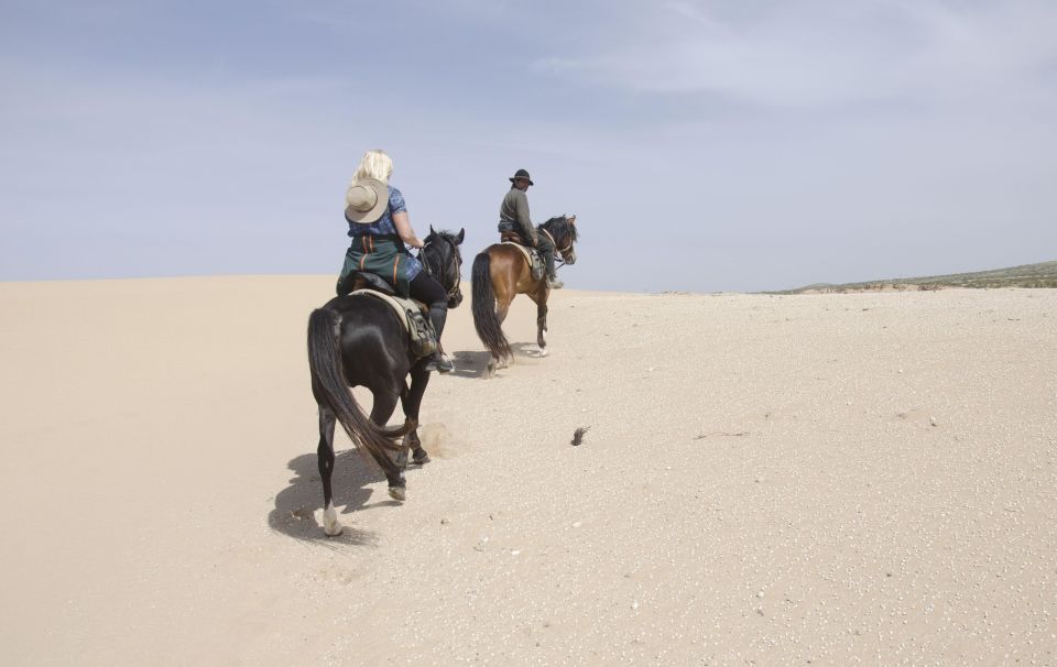
[[339, 325], [338, 313], [328, 308], [313, 310], [308, 317], [308, 368], [316, 397], [334, 411], [349, 438], [366, 449], [383, 471], [397, 474], [400, 467], [385, 452], [403, 450], [396, 438], [407, 433], [407, 425], [382, 428], [360, 409], [345, 379]]

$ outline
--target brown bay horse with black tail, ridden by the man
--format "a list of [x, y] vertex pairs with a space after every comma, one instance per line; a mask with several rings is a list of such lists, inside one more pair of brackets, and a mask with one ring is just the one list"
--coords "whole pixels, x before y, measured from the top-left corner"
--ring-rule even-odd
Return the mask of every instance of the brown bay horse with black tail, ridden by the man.
[[[573, 247], [577, 239], [576, 216], [551, 218], [538, 225], [536, 231], [551, 237], [555, 253], [560, 255], [563, 263], [576, 263], [576, 250]], [[504, 239], [506, 233], [503, 234]], [[495, 371], [497, 364], [505, 368], [513, 357], [502, 324], [510, 303], [519, 294], [527, 294], [536, 303], [536, 345], [540, 346], [540, 354], [546, 356], [547, 296], [551, 294], [546, 275], [538, 281], [533, 278], [532, 266], [519, 249], [493, 243], [473, 259], [471, 280], [473, 327], [491, 353], [486, 376]]]

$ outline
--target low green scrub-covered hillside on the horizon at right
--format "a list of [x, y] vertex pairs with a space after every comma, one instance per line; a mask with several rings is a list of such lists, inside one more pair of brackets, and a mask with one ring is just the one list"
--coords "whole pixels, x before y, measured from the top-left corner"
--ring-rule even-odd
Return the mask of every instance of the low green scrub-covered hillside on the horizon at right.
[[926, 291], [947, 287], [996, 288], [996, 287], [1057, 287], [1057, 262], [1025, 264], [1010, 269], [978, 271], [976, 273], [956, 273], [952, 275], [929, 275], [911, 278], [890, 278], [865, 283], [844, 283], [832, 285], [819, 283], [798, 289], [771, 292], [770, 294], [811, 294], [841, 292], [885, 292], [885, 291]]

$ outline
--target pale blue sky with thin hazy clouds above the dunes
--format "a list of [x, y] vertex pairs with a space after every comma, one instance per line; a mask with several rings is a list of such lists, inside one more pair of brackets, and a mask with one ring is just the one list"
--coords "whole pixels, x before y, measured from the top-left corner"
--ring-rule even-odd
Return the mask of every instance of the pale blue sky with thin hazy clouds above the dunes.
[[424, 236], [576, 214], [579, 289], [1057, 259], [1051, 0], [0, 0], [0, 281], [336, 274], [383, 149]]

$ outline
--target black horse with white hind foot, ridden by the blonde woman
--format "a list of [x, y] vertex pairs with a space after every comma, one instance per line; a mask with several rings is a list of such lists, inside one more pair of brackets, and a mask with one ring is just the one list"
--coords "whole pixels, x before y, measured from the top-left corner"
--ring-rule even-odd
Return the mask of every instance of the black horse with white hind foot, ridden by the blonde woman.
[[[454, 234], [437, 232], [431, 227], [418, 253], [424, 270], [447, 291], [449, 308], [462, 303], [459, 245], [465, 236], [465, 230]], [[336, 420], [364, 458], [382, 469], [389, 481], [389, 494], [395, 500], [406, 499], [404, 469], [407, 449], [412, 449], [416, 463], [429, 460], [417, 433], [418, 408], [429, 383], [431, 373], [425, 370], [427, 362], [428, 357], [418, 359], [412, 353], [407, 332], [393, 308], [371, 295], [338, 296], [309, 316], [308, 368], [312, 394], [319, 407], [316, 455], [323, 481], [323, 520], [327, 535], [340, 535], [342, 529], [330, 492]], [[366, 386], [374, 396], [370, 418], [364, 416], [349, 391], [353, 386]], [[404, 425], [386, 427], [397, 401], [404, 411]], [[401, 437], [403, 442], [397, 440]]]

